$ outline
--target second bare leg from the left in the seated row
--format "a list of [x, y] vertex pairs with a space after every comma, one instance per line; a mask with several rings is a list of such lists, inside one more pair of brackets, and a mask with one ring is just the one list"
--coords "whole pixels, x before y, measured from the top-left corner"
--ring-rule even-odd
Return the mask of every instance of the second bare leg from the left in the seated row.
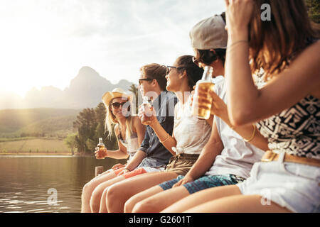
[[100, 211], [100, 201], [102, 197], [102, 193], [107, 187], [110, 187], [112, 184], [117, 182], [121, 182], [125, 178], [123, 176], [114, 177], [113, 179], [108, 180], [107, 182], [103, 182], [99, 184], [92, 192], [90, 199], [90, 209], [92, 213], [97, 213]]

